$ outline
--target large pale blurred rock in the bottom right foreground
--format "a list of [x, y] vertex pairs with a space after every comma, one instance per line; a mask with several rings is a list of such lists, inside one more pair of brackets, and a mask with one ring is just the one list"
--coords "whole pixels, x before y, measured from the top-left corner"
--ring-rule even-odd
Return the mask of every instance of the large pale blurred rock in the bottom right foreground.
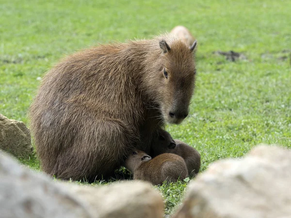
[[260, 145], [192, 181], [175, 218], [290, 218], [291, 150]]

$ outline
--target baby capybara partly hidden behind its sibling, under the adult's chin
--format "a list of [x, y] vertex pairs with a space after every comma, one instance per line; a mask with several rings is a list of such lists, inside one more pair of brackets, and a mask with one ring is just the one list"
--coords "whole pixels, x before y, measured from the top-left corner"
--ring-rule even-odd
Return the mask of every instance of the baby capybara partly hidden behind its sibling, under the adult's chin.
[[150, 155], [155, 157], [163, 153], [172, 153], [181, 156], [185, 160], [189, 175], [195, 176], [199, 172], [201, 164], [199, 152], [183, 141], [173, 140], [165, 130], [159, 130], [158, 135], [160, 143], [151, 147]]

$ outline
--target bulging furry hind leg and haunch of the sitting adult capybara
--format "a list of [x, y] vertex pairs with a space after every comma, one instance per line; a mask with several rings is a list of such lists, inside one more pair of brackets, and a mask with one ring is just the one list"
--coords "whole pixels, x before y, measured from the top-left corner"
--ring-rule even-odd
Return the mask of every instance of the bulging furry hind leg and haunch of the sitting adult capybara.
[[101, 179], [120, 166], [131, 148], [130, 131], [118, 121], [97, 121], [77, 133], [73, 146], [59, 154], [55, 166], [58, 178]]

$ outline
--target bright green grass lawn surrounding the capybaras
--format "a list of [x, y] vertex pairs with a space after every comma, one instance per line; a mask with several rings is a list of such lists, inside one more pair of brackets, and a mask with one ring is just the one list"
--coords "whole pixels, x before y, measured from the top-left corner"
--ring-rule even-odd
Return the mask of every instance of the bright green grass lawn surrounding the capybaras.
[[[198, 40], [197, 87], [187, 120], [167, 129], [201, 153], [201, 170], [261, 142], [291, 148], [290, 8], [288, 0], [0, 0], [0, 113], [29, 125], [39, 79], [65, 54], [184, 25]], [[247, 60], [229, 62], [216, 50]], [[39, 170], [35, 157], [22, 162]], [[166, 213], [185, 186], [158, 187]]]

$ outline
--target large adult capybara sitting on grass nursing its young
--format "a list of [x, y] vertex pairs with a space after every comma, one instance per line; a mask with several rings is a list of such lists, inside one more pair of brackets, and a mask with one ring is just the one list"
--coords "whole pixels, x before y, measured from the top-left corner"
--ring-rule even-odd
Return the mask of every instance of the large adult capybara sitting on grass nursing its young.
[[56, 64], [30, 107], [43, 171], [105, 178], [133, 149], [150, 149], [157, 129], [188, 115], [195, 45], [165, 34], [88, 48]]

